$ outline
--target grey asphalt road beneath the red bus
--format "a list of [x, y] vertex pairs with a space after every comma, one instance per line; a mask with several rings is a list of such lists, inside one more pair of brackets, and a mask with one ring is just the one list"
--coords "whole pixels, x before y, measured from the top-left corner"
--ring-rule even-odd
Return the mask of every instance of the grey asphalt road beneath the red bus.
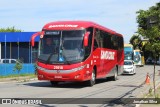
[[[160, 66], [156, 66], [156, 80], [160, 79], [158, 75]], [[59, 98], [56, 101], [64, 102], [68, 104], [42, 104], [41, 106], [75, 106], [75, 107], [105, 107], [105, 106], [117, 106], [117, 104], [96, 104], [98, 100], [104, 100], [105, 98], [136, 98], [145, 90], [144, 81], [147, 73], [150, 74], [152, 83], [153, 65], [146, 65], [144, 67], [136, 68], [135, 75], [120, 75], [117, 81], [111, 81], [106, 79], [100, 79], [96, 81], [96, 85], [88, 87], [83, 83], [63, 82], [58, 86], [53, 87], [48, 81], [30, 81], [30, 82], [7, 82], [0, 83], [0, 97], [1, 98]], [[62, 99], [66, 98], [66, 99]], [[69, 99], [73, 98], [73, 99]], [[75, 98], [83, 98], [86, 104], [72, 104]], [[90, 99], [85, 99], [90, 98]], [[95, 98], [95, 99], [93, 99]], [[111, 101], [113, 99], [110, 99]], [[49, 100], [49, 99], [48, 99]], [[52, 102], [51, 99], [50, 102]], [[87, 101], [88, 100], [88, 101]], [[109, 101], [110, 101], [109, 100]], [[119, 106], [124, 106], [121, 104]], [[12, 105], [13, 106], [13, 105]], [[15, 105], [17, 106], [17, 105]], [[18, 105], [21, 106], [21, 105]], [[33, 106], [33, 105], [23, 105]], [[34, 105], [40, 106], [40, 105]], [[133, 104], [126, 106], [135, 106]]]

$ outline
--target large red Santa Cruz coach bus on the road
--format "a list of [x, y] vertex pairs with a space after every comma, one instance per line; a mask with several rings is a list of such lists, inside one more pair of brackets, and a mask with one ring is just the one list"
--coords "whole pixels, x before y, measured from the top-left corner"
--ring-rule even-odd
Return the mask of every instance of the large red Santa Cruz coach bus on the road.
[[117, 76], [123, 72], [123, 36], [89, 21], [57, 21], [32, 35], [40, 36], [37, 73], [52, 85], [64, 81], [86, 81]]

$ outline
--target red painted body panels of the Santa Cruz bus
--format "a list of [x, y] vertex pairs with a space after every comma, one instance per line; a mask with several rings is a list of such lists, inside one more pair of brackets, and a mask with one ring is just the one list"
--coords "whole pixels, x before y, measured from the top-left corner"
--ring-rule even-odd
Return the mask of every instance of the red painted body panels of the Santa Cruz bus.
[[[42, 30], [76, 30], [85, 29], [88, 27], [98, 28], [106, 32], [109, 32], [110, 34], [116, 34], [122, 37], [121, 34], [118, 34], [113, 30], [110, 30], [101, 25], [88, 21], [51, 22], [46, 24]], [[92, 49], [90, 56], [84, 62], [76, 64], [52, 65], [37, 62], [38, 79], [50, 81], [86, 81], [91, 79], [91, 74], [94, 67], [96, 68], [96, 78], [104, 78], [111, 73], [112, 69], [116, 65], [118, 65], [118, 67], [123, 67], [123, 63], [124, 51], [97, 48], [94, 51]], [[74, 71], [74, 69], [79, 67], [84, 68]], [[121, 73], [122, 72], [120, 72], [119, 74]]]

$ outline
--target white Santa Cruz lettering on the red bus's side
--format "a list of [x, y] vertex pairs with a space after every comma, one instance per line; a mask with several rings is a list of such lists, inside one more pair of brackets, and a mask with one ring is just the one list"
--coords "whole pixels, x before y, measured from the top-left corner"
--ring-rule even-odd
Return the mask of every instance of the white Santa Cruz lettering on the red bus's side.
[[101, 59], [114, 60], [115, 52], [101, 51]]

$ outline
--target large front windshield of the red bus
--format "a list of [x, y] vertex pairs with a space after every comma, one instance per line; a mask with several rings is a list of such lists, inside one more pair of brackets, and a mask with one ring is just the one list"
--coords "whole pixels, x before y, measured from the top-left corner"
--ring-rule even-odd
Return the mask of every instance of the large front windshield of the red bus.
[[38, 61], [51, 64], [81, 62], [84, 59], [84, 33], [85, 30], [45, 31]]

